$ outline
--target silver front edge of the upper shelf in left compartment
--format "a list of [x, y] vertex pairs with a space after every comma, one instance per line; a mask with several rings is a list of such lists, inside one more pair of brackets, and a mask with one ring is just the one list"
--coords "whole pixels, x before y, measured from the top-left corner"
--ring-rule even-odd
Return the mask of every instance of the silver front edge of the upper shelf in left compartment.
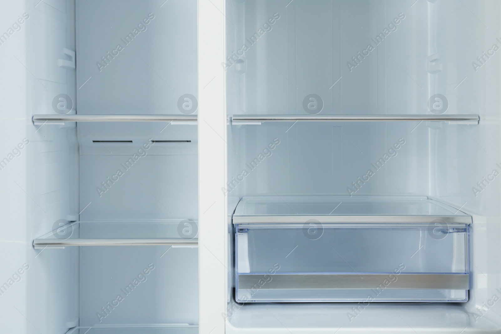
[[173, 122], [197, 124], [197, 115], [33, 115], [35, 125], [66, 122]]

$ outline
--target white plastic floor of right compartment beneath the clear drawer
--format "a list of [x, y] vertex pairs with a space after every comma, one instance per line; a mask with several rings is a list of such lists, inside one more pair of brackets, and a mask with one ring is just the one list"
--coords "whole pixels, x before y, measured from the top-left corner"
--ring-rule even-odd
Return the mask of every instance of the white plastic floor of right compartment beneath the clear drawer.
[[[486, 333], [499, 332], [488, 312], [475, 322], [462, 304], [246, 304], [226, 318], [226, 334]], [[351, 319], [348, 313], [354, 315]], [[350, 321], [351, 320], [351, 321]]]

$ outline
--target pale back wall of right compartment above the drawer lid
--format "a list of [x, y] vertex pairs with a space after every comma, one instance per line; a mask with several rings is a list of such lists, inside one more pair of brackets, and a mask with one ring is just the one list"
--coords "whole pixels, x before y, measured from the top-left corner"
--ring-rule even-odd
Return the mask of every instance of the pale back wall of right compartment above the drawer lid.
[[[342, 8], [354, 13], [356, 18], [342, 14], [345, 13]], [[238, 38], [229, 32], [232, 37], [228, 54], [237, 51], [242, 43], [249, 46], [242, 57], [246, 72], [238, 74], [237, 65], [227, 69], [228, 113], [306, 114], [302, 104], [308, 94], [317, 94], [324, 101], [321, 114], [426, 113], [428, 93], [386, 53], [391, 50], [391, 57], [408, 63], [409, 59], [422, 58], [415, 49], [416, 45], [418, 50], [426, 46], [427, 32], [423, 29], [426, 22], [418, 18], [426, 15], [427, 8], [415, 10], [418, 13], [413, 16], [407, 15], [386, 42], [352, 72], [346, 66], [346, 62], [351, 61], [350, 55], [356, 55], [371, 43], [371, 38], [387, 26], [386, 21], [391, 22], [408, 9], [401, 2], [346, 2], [342, 8], [331, 1], [314, 4], [300, 1], [289, 5], [266, 1], [228, 2], [230, 20], [241, 26], [237, 30], [229, 25], [228, 29], [238, 31], [235, 33]], [[275, 13], [280, 19], [251, 46], [248, 39]], [[365, 27], [360, 27], [360, 23]], [[415, 36], [416, 31], [422, 33]], [[425, 86], [426, 71], [413, 66], [408, 66], [410, 76], [422, 77], [421, 86]], [[418, 100], [421, 108], [417, 107]], [[245, 195], [348, 194], [348, 187], [356, 190], [352, 182], [368, 169], [374, 170], [371, 163], [400, 138], [405, 140], [405, 145], [397, 157], [381, 170], [374, 170], [375, 176], [357, 194], [429, 192], [429, 184], [418, 181], [429, 178], [426, 126], [414, 129], [413, 123], [293, 124], [234, 127], [234, 134], [241, 142], [237, 149], [240, 152], [238, 174], [269, 142], [275, 138], [281, 142], [272, 156], [256, 170], [249, 171], [250, 175], [238, 185], [245, 189]], [[388, 175], [397, 178], [395, 182], [399, 185], [395, 187], [387, 182]]]

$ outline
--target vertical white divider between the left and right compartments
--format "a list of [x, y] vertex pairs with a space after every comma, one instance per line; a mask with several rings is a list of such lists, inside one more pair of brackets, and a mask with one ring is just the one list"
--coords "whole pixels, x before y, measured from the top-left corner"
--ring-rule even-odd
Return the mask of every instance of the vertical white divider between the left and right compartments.
[[226, 113], [224, 0], [198, 0], [199, 333], [224, 333]]

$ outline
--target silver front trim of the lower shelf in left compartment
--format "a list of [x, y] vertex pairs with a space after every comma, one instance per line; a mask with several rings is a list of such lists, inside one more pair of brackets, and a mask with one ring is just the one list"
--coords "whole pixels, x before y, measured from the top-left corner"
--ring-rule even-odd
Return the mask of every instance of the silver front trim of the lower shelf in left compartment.
[[180, 238], [108, 238], [108, 239], [35, 239], [35, 247], [65, 246], [198, 246], [198, 238], [185, 240]]

